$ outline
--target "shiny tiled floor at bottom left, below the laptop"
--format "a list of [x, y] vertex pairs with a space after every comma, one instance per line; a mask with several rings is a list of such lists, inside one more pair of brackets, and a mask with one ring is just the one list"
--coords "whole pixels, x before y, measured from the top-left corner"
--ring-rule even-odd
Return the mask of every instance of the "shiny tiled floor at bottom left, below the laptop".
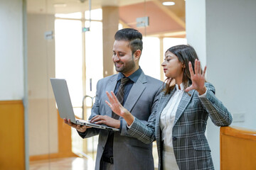
[[92, 159], [69, 157], [30, 162], [30, 170], [93, 170]]

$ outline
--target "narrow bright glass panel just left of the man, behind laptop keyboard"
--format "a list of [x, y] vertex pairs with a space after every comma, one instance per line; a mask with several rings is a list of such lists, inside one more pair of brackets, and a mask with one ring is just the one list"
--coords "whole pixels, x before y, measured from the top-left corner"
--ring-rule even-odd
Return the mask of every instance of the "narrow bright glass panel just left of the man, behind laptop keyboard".
[[[89, 21], [85, 22], [85, 25]], [[91, 113], [92, 98], [96, 94], [97, 81], [103, 77], [102, 59], [102, 22], [92, 21], [90, 31], [85, 32], [85, 63], [86, 63], [86, 115], [87, 119]], [[87, 154], [96, 158], [98, 135], [87, 138]]]

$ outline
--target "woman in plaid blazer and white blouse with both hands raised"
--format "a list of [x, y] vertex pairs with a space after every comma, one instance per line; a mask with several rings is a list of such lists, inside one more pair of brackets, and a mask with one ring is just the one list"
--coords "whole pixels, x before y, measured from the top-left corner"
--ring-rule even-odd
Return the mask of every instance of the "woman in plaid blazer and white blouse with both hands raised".
[[230, 125], [232, 116], [215, 97], [214, 86], [206, 82], [196, 51], [177, 45], [165, 53], [161, 64], [167, 77], [149, 125], [119, 104], [113, 92], [106, 103], [127, 121], [129, 135], [145, 143], [156, 140], [159, 169], [214, 169], [206, 140], [208, 117], [217, 126]]

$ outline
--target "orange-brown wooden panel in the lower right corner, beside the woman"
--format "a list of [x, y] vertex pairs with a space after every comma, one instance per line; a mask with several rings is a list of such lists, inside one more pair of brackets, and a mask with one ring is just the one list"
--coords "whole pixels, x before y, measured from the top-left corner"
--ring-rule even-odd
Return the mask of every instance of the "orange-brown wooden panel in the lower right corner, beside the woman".
[[256, 169], [256, 130], [220, 128], [220, 169]]

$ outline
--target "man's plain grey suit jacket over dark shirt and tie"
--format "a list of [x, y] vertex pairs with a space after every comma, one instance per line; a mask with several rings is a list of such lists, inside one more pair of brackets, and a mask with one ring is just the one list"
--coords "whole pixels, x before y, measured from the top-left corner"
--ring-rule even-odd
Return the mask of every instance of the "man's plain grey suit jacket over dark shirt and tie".
[[[95, 115], [112, 116], [111, 108], [105, 103], [105, 100], [108, 101], [106, 91], [114, 91], [116, 84], [117, 74], [98, 81], [95, 103], [92, 107], [90, 118]], [[156, 107], [156, 96], [161, 92], [162, 86], [162, 81], [146, 76], [142, 72], [137, 82], [133, 84], [129, 96], [124, 103], [124, 108], [127, 108], [134, 116], [142, 120], [142, 123], [147, 125], [149, 115], [154, 110], [154, 107]], [[145, 144], [134, 137], [129, 137], [126, 125], [127, 123], [122, 119], [121, 132], [114, 132], [114, 169], [153, 170], [154, 160], [151, 143]], [[100, 169], [100, 159], [109, 132], [108, 130], [90, 128], [85, 133], [79, 133], [83, 138], [99, 135], [95, 169]]]

